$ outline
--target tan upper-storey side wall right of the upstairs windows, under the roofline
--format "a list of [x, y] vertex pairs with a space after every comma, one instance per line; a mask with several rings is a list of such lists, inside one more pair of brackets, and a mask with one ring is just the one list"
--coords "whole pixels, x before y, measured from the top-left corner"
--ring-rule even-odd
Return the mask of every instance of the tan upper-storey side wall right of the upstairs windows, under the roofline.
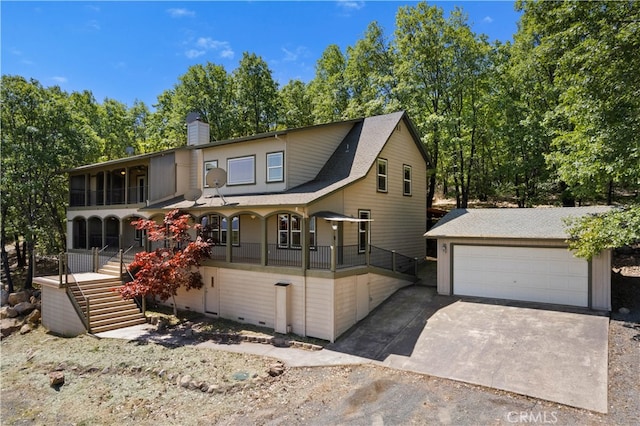
[[337, 123], [289, 133], [285, 155], [287, 188], [315, 178], [352, 127], [353, 123]]

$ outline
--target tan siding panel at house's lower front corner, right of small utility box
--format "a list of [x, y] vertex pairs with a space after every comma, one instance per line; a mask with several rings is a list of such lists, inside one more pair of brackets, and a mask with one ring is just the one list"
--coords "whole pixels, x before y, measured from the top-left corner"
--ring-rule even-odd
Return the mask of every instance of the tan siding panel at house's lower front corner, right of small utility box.
[[333, 340], [333, 281], [307, 277], [307, 336]]

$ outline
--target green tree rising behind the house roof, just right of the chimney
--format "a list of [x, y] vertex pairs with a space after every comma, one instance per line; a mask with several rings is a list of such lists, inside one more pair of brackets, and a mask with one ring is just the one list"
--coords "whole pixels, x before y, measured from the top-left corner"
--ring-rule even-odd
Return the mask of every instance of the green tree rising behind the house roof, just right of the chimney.
[[236, 136], [275, 129], [278, 119], [278, 84], [273, 80], [267, 63], [256, 54], [245, 52], [233, 78], [236, 114], [240, 125]]

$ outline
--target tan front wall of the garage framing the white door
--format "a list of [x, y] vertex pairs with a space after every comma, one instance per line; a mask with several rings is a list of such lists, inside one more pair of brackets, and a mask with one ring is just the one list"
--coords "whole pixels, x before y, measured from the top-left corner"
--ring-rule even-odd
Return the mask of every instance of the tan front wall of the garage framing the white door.
[[[554, 240], [510, 240], [480, 238], [439, 238], [437, 240], [437, 290], [438, 294], [451, 295], [451, 245], [477, 244], [521, 247], [559, 247], [566, 248], [563, 241]], [[446, 246], [446, 251], [443, 247]], [[611, 251], [607, 250], [591, 261], [591, 307], [592, 309], [611, 310]]]

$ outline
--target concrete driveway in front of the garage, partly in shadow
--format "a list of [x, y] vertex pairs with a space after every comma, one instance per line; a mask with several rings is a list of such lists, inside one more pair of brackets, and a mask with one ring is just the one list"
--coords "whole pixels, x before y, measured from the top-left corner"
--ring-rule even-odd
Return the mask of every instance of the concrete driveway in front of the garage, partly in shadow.
[[429, 374], [607, 412], [607, 316], [549, 306], [394, 294], [327, 349]]

